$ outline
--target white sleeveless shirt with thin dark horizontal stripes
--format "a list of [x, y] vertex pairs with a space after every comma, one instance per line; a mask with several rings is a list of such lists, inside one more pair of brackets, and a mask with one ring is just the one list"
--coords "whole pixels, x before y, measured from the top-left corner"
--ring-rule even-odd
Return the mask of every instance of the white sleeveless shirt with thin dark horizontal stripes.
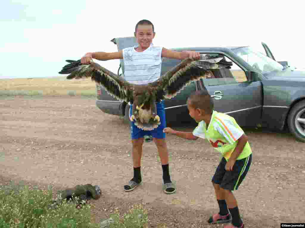
[[123, 49], [125, 80], [137, 85], [158, 80], [161, 74], [162, 47], [151, 44], [142, 52], [136, 51], [137, 47]]

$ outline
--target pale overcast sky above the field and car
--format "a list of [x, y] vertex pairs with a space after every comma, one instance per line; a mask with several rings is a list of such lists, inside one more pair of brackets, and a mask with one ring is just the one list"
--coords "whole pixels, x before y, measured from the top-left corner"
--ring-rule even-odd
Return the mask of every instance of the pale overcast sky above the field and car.
[[[181, 3], [178, 3], [181, 2]], [[305, 67], [304, 8], [297, 1], [1, 0], [0, 78], [54, 77], [66, 59], [117, 51], [141, 19], [166, 48], [267, 43], [277, 61]], [[301, 2], [301, 1], [300, 1]], [[119, 60], [99, 61], [117, 72]]]

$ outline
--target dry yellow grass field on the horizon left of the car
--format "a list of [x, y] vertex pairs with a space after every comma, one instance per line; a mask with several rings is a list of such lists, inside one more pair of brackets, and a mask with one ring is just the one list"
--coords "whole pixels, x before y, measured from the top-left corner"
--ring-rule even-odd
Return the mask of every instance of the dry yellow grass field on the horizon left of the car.
[[95, 82], [88, 79], [14, 78], [0, 80], [0, 96], [95, 96]]

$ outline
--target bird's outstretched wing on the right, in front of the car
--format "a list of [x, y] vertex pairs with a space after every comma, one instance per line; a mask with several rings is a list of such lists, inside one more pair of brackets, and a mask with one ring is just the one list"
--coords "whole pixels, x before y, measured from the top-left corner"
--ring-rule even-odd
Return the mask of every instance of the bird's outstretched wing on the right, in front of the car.
[[202, 55], [200, 60], [187, 58], [151, 83], [151, 86], [156, 88], [157, 99], [170, 99], [190, 82], [206, 78], [206, 75], [210, 74], [210, 70], [230, 68], [231, 65], [232, 62], [224, 61], [223, 57], [219, 56]]

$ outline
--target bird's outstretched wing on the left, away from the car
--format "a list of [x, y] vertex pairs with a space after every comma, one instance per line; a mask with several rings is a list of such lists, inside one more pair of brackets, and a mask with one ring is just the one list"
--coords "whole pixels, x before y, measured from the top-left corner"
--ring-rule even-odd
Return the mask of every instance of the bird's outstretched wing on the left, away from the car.
[[101, 83], [102, 87], [118, 100], [129, 102], [132, 100], [132, 84], [124, 78], [119, 77], [99, 64], [91, 61], [89, 65], [81, 64], [81, 60], [66, 60], [65, 65], [59, 74], [69, 74], [67, 79], [91, 78]]

